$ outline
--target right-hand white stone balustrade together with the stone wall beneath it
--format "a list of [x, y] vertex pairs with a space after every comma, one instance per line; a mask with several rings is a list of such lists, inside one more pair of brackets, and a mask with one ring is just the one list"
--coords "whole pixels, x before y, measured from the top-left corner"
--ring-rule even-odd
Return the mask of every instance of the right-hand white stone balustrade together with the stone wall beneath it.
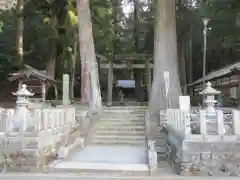
[[[193, 118], [194, 117], [194, 118]], [[235, 176], [240, 174], [240, 111], [166, 112], [169, 163], [181, 175]]]

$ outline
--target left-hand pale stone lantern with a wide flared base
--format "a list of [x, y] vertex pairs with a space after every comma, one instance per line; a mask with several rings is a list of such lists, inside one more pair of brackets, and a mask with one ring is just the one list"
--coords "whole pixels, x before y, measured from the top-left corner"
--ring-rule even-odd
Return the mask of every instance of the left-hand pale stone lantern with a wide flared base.
[[32, 118], [27, 106], [29, 104], [28, 97], [34, 95], [27, 90], [27, 85], [22, 84], [21, 88], [16, 92], [12, 93], [17, 96], [15, 113], [13, 115], [13, 123], [11, 129], [14, 131], [25, 132], [29, 128], [34, 128], [34, 119]]

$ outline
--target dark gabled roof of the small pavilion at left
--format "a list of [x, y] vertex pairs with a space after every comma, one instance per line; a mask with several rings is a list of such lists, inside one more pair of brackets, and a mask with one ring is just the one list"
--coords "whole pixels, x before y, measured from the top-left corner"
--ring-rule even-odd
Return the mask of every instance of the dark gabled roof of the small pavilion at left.
[[46, 71], [37, 70], [29, 65], [24, 65], [22, 70], [9, 74], [10, 77], [7, 78], [9, 81], [15, 81], [19, 78], [29, 78], [33, 76], [39, 80], [47, 80], [51, 82], [56, 82], [53, 78], [47, 76]]

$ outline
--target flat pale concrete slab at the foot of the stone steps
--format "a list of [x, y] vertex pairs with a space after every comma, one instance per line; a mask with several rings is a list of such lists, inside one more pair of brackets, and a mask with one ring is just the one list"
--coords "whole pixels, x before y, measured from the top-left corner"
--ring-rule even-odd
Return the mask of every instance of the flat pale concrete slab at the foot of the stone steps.
[[53, 172], [148, 172], [147, 149], [88, 146], [52, 166]]

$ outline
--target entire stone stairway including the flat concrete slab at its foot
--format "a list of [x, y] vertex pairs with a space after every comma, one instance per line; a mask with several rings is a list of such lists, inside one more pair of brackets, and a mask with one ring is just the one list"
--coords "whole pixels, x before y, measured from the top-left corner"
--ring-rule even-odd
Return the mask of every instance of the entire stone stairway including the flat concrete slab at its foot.
[[87, 145], [52, 166], [52, 172], [148, 176], [145, 106], [104, 108]]

